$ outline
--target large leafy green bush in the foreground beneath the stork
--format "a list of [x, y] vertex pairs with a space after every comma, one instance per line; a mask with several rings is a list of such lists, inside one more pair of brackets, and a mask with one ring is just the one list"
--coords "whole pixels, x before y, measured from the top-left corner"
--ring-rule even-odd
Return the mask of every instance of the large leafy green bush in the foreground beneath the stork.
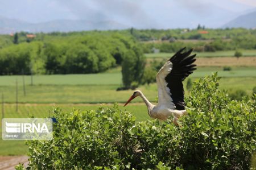
[[56, 109], [53, 139], [27, 142], [28, 169], [255, 168], [256, 96], [232, 101], [218, 79], [214, 74], [194, 82], [180, 127], [171, 119], [135, 122], [117, 105]]

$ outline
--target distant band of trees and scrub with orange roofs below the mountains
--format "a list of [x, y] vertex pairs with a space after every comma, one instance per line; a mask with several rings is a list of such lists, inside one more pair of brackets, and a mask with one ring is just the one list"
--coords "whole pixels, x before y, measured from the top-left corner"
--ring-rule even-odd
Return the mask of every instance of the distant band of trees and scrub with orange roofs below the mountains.
[[[74, 38], [86, 35], [130, 35], [139, 42], [154, 43], [156, 40], [167, 40], [161, 47], [161, 51], [167, 51], [166, 46], [178, 43], [179, 40], [209, 40], [204, 42], [186, 42], [182, 41], [185, 46], [194, 45], [199, 50], [205, 51], [220, 51], [227, 49], [255, 49], [256, 48], [256, 29], [245, 29], [245, 28], [225, 28], [225, 29], [210, 29], [204, 26], [197, 26], [195, 29], [189, 28], [179, 28], [179, 29], [169, 29], [169, 30], [137, 30], [135, 28], [130, 28], [127, 30], [112, 30], [112, 31], [80, 31], [80, 32], [51, 32], [49, 34], [37, 33], [35, 38], [28, 38], [27, 34], [29, 32], [19, 32], [18, 34], [10, 35], [0, 35], [0, 49], [6, 47], [10, 44], [18, 44], [23, 42], [46, 42], [53, 39], [60, 38]], [[168, 40], [170, 43], [168, 43]], [[177, 40], [177, 41], [175, 41]], [[156, 43], [155, 43], [156, 44]], [[159, 44], [159, 43], [157, 43]], [[182, 45], [183, 45], [182, 44]], [[171, 45], [170, 45], [171, 46]], [[172, 45], [173, 46], [173, 45]], [[184, 46], [184, 45], [183, 45]], [[147, 47], [147, 46], [146, 46]], [[203, 48], [204, 47], [204, 48]], [[175, 48], [175, 47], [174, 47]], [[179, 47], [180, 48], [180, 47]], [[144, 48], [147, 49], [147, 48]], [[151, 50], [151, 49], [150, 49]]]

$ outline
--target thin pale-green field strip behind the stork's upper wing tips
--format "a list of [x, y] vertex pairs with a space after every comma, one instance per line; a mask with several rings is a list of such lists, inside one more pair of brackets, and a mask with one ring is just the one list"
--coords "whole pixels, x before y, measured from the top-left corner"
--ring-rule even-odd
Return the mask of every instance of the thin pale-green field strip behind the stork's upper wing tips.
[[[256, 56], [256, 50], [242, 50], [243, 56]], [[235, 51], [196, 52], [197, 57], [233, 57]], [[147, 53], [146, 57], [171, 57], [174, 53]]]

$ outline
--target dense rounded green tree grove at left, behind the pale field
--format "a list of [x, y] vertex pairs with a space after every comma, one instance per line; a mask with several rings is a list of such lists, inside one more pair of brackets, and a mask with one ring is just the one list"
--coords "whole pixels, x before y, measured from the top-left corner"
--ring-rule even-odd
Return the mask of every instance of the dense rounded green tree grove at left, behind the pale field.
[[98, 73], [121, 65], [125, 54], [133, 53], [135, 46], [138, 45], [131, 36], [120, 34], [57, 36], [47, 41], [23, 42], [0, 49], [0, 73]]

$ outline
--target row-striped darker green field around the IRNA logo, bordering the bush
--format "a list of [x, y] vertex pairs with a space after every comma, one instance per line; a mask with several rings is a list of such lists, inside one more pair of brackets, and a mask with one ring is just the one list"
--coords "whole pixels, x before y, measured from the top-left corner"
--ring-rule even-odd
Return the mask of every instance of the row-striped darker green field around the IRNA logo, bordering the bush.
[[[72, 111], [73, 108], [80, 110], [96, 110], [98, 108], [96, 105], [20, 105], [19, 111], [16, 113], [15, 105], [5, 105], [5, 118], [28, 118], [32, 115], [36, 118], [52, 117], [52, 110], [57, 106], [65, 112]], [[145, 105], [128, 105], [126, 107], [120, 105], [119, 108], [131, 111], [137, 121], [150, 119]], [[0, 126], [0, 132], [2, 132], [2, 122], [0, 123]], [[27, 146], [22, 140], [9, 141], [1, 139], [0, 146], [0, 155], [24, 155], [27, 151]]]

